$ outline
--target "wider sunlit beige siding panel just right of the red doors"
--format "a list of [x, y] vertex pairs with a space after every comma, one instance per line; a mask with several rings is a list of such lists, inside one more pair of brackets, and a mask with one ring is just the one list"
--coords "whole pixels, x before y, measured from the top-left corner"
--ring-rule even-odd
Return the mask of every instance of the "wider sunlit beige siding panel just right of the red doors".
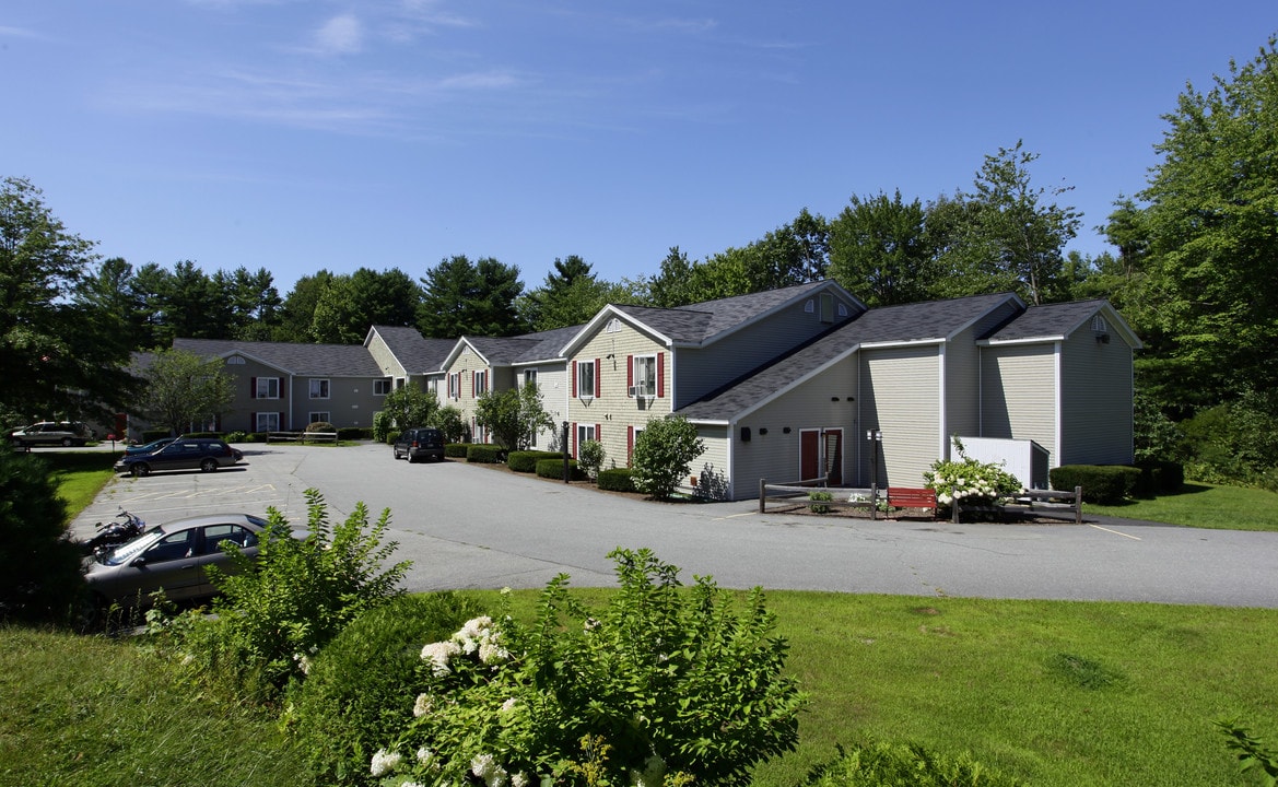
[[878, 483], [919, 487], [923, 473], [939, 459], [941, 360], [938, 346], [864, 350], [861, 353], [860, 428], [852, 436], [865, 457], [868, 485], [872, 446], [865, 429], [883, 432]]

